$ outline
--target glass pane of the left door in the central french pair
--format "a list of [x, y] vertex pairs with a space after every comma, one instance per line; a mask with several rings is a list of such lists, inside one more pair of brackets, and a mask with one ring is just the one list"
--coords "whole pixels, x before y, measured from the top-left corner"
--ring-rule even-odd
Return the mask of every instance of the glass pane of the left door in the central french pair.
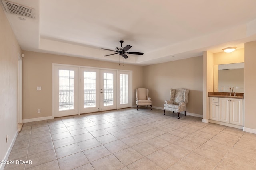
[[84, 71], [84, 108], [96, 107], [96, 72]]

